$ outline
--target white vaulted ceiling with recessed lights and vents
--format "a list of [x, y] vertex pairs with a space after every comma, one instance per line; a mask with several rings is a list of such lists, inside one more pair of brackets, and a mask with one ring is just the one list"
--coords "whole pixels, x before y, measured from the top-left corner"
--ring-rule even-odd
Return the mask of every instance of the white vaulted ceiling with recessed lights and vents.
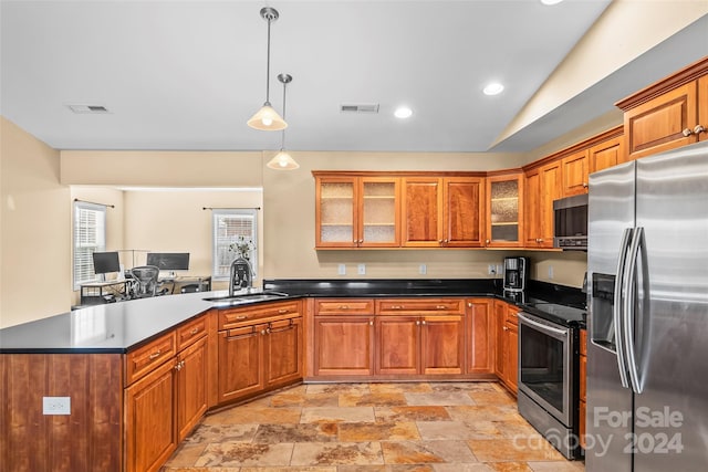
[[[275, 76], [293, 76], [288, 149], [486, 151], [608, 3], [2, 0], [0, 112], [58, 149], [275, 149], [280, 133], [246, 125], [266, 98], [259, 11], [271, 6], [280, 12], [270, 74], [279, 111]], [[705, 54], [683, 41], [491, 150], [538, 147]], [[506, 90], [485, 96], [492, 80]], [[378, 114], [340, 112], [369, 103]], [[67, 104], [110, 113], [74, 114]], [[393, 117], [402, 104], [414, 111], [407, 120]]]

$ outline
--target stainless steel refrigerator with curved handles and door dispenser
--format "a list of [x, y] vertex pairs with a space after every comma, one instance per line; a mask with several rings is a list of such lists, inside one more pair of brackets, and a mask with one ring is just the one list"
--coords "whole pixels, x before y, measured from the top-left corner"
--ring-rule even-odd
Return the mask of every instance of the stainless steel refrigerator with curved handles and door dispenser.
[[585, 470], [708, 471], [708, 143], [590, 177]]

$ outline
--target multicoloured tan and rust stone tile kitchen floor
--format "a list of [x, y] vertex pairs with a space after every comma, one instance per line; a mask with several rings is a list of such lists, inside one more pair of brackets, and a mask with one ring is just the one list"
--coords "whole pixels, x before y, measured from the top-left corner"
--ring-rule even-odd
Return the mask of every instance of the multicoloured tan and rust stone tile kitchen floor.
[[494, 382], [313, 384], [206, 417], [164, 472], [579, 472]]

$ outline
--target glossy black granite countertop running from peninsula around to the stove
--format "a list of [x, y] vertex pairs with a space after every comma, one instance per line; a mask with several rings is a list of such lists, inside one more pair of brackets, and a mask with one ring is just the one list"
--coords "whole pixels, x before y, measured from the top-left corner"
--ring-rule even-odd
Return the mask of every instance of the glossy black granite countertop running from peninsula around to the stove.
[[[381, 296], [497, 297], [523, 307], [523, 300], [501, 290], [501, 281], [481, 280], [266, 280], [264, 291], [280, 300]], [[202, 298], [225, 291], [188, 293], [96, 305], [0, 329], [0, 353], [126, 353], [215, 307]], [[524, 296], [576, 305], [585, 295], [577, 289], [531, 281]], [[257, 303], [268, 303], [254, 301]], [[239, 304], [239, 306], [248, 303]]]

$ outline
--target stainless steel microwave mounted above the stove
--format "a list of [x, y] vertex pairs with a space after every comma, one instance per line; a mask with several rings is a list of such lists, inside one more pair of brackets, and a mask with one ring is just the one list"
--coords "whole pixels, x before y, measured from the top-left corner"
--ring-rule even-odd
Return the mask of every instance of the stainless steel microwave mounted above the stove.
[[553, 247], [587, 251], [587, 193], [553, 201]]

